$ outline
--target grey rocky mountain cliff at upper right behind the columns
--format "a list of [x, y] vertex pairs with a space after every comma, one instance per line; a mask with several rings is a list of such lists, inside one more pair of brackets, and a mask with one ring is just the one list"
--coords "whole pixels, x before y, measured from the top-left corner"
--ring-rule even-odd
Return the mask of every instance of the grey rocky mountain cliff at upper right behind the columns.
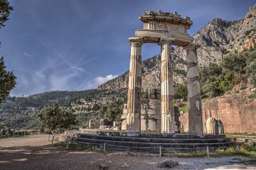
[[[223, 21], [215, 18], [193, 35], [193, 42], [201, 45], [197, 50], [200, 66], [218, 63], [228, 52], [242, 52], [255, 47], [256, 42], [256, 5], [252, 6], [239, 21]], [[186, 60], [182, 47], [175, 50], [177, 56]]]

